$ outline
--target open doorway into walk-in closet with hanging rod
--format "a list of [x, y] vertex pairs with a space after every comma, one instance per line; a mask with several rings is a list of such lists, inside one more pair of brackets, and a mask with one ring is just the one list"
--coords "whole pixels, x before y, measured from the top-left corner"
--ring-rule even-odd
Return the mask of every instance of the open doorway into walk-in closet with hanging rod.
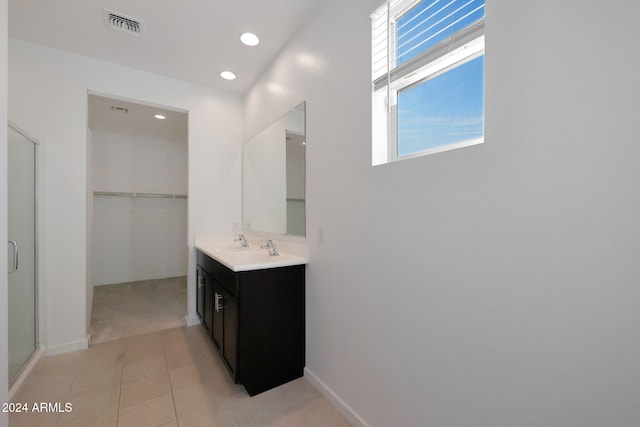
[[188, 112], [88, 94], [91, 344], [185, 324]]

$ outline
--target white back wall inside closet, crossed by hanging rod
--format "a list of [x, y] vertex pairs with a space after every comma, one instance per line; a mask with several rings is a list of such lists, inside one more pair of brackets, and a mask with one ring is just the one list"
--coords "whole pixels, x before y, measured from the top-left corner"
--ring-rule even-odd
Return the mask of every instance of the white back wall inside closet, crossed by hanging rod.
[[[93, 131], [93, 190], [187, 194], [186, 139]], [[93, 219], [94, 285], [187, 274], [186, 199], [98, 196]]]

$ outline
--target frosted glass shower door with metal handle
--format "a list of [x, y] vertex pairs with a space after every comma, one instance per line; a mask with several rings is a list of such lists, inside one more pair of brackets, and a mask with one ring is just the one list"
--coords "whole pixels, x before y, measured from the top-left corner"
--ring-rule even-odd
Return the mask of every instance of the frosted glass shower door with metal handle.
[[37, 348], [36, 143], [8, 129], [9, 381]]

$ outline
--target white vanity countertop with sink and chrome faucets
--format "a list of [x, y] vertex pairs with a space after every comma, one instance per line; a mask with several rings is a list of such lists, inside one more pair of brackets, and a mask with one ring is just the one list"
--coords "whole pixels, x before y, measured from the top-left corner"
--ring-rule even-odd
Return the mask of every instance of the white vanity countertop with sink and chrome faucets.
[[267, 268], [288, 267], [291, 265], [307, 264], [306, 256], [291, 254], [276, 249], [280, 255], [269, 255], [266, 249], [261, 249], [258, 242], [249, 241], [249, 247], [243, 248], [240, 243], [202, 241], [196, 239], [195, 247], [211, 258], [220, 262], [233, 271], [263, 270]]

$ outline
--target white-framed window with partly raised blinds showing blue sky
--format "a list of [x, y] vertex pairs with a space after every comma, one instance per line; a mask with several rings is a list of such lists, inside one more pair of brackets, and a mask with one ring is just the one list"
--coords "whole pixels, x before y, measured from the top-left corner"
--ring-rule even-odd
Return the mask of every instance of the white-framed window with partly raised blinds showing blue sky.
[[484, 142], [484, 0], [387, 0], [372, 15], [374, 165]]

